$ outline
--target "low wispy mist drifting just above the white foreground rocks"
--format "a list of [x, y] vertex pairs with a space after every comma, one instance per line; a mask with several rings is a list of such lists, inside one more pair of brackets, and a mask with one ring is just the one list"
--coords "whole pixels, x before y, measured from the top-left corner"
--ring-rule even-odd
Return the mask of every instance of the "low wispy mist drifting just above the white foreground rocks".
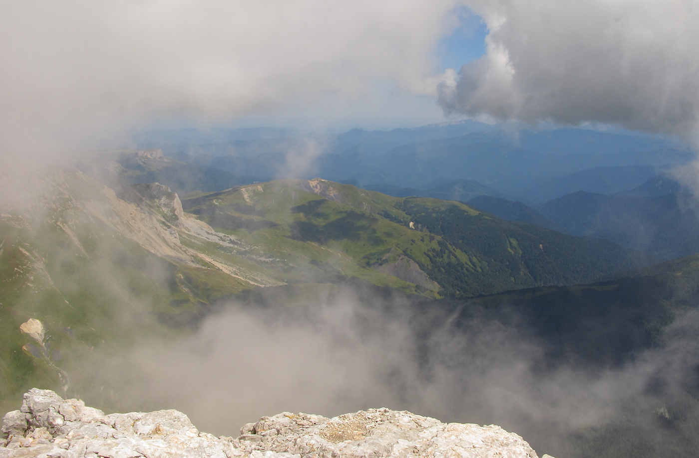
[[[621, 366], [552, 364], [546, 339], [514, 312], [496, 319], [473, 304], [371, 295], [340, 288], [296, 306], [273, 304], [276, 296], [229, 304], [181, 341], [146, 341], [120, 363], [99, 364], [93, 384], [119, 392], [124, 407], [178, 408], [215, 434], [234, 436], [280, 411], [387, 406], [500, 424], [541, 452], [571, 456], [579, 434], [608, 422], [647, 431], [652, 445], [654, 435], [677, 434], [663, 430], [664, 413], [677, 420], [681, 406], [681, 427], [699, 413], [686, 386], [699, 363], [698, 347], [687, 345], [696, 313], [670, 327], [664, 348]], [[457, 323], [463, 307], [470, 318]]]

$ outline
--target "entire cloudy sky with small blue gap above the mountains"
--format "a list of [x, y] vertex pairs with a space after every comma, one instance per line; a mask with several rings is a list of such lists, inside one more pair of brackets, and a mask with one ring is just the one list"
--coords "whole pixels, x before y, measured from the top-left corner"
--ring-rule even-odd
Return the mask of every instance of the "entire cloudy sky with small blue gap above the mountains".
[[2, 0], [0, 149], [463, 118], [696, 140], [698, 20], [692, 0]]

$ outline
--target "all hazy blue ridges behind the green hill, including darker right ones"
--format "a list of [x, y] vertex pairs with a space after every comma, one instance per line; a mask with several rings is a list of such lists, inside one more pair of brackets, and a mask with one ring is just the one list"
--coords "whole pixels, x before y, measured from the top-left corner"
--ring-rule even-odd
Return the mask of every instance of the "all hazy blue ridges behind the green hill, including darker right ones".
[[[595, 200], [590, 195], [585, 200], [582, 196], [586, 194], [579, 193], [635, 193], [641, 197], [644, 193], [664, 195], [679, 191], [681, 185], [672, 188], [668, 183], [682, 167], [689, 167], [693, 153], [669, 138], [579, 128], [531, 130], [475, 121], [387, 132], [354, 130], [315, 137], [293, 131], [267, 130], [262, 134], [264, 138], [252, 140], [250, 130], [215, 131], [209, 140], [226, 135], [245, 140], [204, 143], [207, 140], [203, 133], [197, 137], [187, 131], [189, 140], [196, 142], [159, 146], [165, 147], [172, 158], [196, 165], [202, 170], [199, 173], [215, 176], [216, 179], [208, 179], [207, 189], [211, 189], [212, 183], [223, 189], [227, 185], [284, 177], [291, 172], [294, 176], [322, 177], [396, 197], [414, 195], [470, 202], [485, 195], [524, 203], [480, 198], [473, 201], [475, 207], [480, 203], [486, 212], [510, 221], [534, 223], [570, 235], [607, 238], [646, 252], [648, 262], [697, 252], [696, 244], [691, 242], [692, 210], [677, 204], [674, 198], [664, 198], [668, 202], [663, 203], [660, 196], [628, 197], [623, 203], [612, 204], [621, 198]], [[165, 140], [184, 134], [150, 135]], [[271, 138], [273, 135], [281, 138]], [[292, 162], [296, 164], [293, 170], [280, 168], [279, 164]], [[233, 175], [233, 171], [238, 175]], [[162, 173], [163, 179], [175, 184], [174, 189], [194, 189], [182, 179], [178, 182]], [[157, 181], [156, 174], [148, 176]], [[655, 191], [651, 191], [649, 186], [654, 185], [650, 183], [662, 177], [665, 185], [656, 184]], [[693, 190], [685, 185], [682, 192], [691, 194]], [[564, 198], [565, 195], [569, 196]], [[635, 223], [629, 225], [629, 221]], [[633, 233], [626, 233], [629, 231]], [[679, 242], [683, 237], [686, 240]]]

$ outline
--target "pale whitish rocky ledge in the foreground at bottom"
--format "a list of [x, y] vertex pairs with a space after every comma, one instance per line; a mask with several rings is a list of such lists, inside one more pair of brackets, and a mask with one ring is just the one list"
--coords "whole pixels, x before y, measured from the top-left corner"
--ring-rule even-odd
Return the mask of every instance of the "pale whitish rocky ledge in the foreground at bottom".
[[524, 439], [498, 426], [387, 408], [336, 418], [284, 412], [230, 438], [199, 432], [178, 411], [104, 415], [36, 388], [24, 394], [21, 410], [5, 415], [2, 433], [0, 458], [537, 458]]

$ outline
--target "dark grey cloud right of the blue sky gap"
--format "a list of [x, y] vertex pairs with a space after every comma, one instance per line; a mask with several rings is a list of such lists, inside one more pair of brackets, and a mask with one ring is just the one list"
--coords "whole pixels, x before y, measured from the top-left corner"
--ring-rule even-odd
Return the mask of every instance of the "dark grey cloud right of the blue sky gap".
[[699, 135], [691, 0], [466, 0], [487, 52], [441, 84], [447, 112]]

